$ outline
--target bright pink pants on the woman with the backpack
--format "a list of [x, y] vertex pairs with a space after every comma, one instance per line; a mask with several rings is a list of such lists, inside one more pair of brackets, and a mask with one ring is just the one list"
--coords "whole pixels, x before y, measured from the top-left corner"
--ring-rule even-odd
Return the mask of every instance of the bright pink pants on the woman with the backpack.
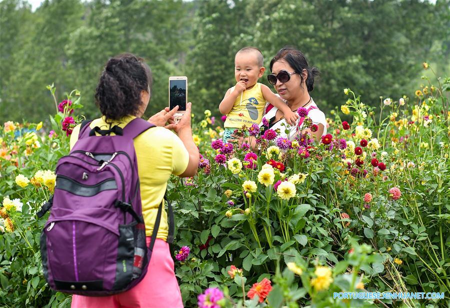
[[[149, 242], [150, 237], [147, 237], [147, 245]], [[162, 239], [156, 239], [154, 242], [148, 271], [145, 277], [132, 289], [111, 296], [72, 296], [72, 308], [178, 308], [182, 306], [183, 302], [175, 277], [169, 245]]]

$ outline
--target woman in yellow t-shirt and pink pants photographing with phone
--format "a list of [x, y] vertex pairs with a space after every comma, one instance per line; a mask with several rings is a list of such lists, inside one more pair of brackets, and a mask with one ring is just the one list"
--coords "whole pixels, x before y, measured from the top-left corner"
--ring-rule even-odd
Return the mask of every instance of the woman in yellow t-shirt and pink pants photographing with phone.
[[[107, 130], [117, 125], [123, 128], [134, 118], [141, 117], [150, 100], [151, 85], [150, 68], [142, 59], [131, 54], [109, 59], [95, 93], [102, 117], [93, 120], [89, 127]], [[187, 104], [178, 124], [172, 121], [177, 108], [171, 111], [165, 109], [149, 119], [158, 127], [148, 129], [133, 139], [147, 245], [169, 177], [172, 174], [190, 177], [197, 171], [199, 153], [192, 140], [190, 105]], [[162, 127], [167, 121], [170, 124]], [[173, 129], [177, 135], [167, 128]], [[70, 148], [78, 139], [79, 129], [80, 126], [77, 126], [72, 132]], [[162, 210], [153, 252], [143, 279], [131, 289], [116, 295], [73, 295], [72, 307], [182, 307], [167, 235], [167, 214]]]

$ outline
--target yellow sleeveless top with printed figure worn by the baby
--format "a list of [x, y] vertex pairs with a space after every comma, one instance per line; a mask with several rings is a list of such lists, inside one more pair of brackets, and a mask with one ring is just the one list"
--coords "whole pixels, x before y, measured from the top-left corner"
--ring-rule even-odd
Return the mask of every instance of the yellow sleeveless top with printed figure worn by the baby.
[[243, 125], [250, 127], [253, 124], [259, 124], [262, 121], [264, 107], [265, 100], [262, 96], [261, 84], [256, 83], [250, 90], [242, 92], [242, 100], [240, 95], [237, 97], [233, 108], [226, 115], [223, 126], [241, 128]]

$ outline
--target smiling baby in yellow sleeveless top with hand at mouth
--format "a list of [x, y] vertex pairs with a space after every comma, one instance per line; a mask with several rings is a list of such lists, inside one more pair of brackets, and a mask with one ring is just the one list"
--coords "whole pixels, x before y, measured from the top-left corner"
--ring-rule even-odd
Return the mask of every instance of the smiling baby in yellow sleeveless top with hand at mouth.
[[244, 47], [234, 57], [234, 78], [236, 85], [228, 89], [220, 102], [219, 111], [226, 115], [223, 140], [231, 139], [231, 134], [243, 125], [250, 127], [262, 120], [266, 101], [284, 114], [286, 122], [295, 125], [298, 115], [270, 89], [258, 83], [264, 74], [264, 59], [259, 49]]

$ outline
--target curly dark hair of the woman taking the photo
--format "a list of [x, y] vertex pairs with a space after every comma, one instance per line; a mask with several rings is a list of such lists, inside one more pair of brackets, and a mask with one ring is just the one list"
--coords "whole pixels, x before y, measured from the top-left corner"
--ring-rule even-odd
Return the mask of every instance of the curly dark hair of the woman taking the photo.
[[106, 63], [95, 90], [95, 105], [106, 119], [137, 115], [142, 90], [151, 92], [151, 70], [142, 58], [121, 54]]

